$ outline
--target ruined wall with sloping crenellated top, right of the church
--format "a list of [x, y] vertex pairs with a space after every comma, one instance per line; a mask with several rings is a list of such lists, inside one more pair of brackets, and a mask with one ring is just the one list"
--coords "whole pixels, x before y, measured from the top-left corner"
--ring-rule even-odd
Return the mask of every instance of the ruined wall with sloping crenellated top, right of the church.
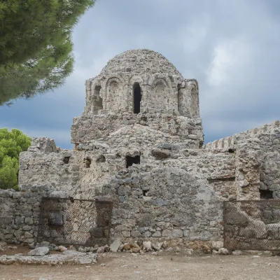
[[280, 197], [279, 120], [214, 141], [203, 148], [235, 151], [236, 177], [240, 186], [239, 199], [259, 199], [259, 190], [267, 191], [267, 198]]

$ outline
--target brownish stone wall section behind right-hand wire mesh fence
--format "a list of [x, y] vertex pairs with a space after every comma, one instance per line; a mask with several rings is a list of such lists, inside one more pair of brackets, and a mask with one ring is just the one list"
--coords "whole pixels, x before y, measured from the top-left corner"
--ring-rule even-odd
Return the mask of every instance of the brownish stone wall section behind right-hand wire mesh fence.
[[225, 204], [225, 246], [232, 250], [278, 250], [280, 202], [228, 202]]

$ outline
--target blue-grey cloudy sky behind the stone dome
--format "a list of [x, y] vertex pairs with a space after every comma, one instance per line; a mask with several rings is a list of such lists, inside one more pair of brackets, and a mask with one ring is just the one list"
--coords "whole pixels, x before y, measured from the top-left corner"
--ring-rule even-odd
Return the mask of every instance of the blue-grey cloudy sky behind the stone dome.
[[97, 0], [73, 44], [75, 69], [64, 86], [0, 107], [0, 127], [71, 148], [85, 80], [135, 48], [160, 52], [197, 78], [206, 143], [280, 119], [279, 0]]

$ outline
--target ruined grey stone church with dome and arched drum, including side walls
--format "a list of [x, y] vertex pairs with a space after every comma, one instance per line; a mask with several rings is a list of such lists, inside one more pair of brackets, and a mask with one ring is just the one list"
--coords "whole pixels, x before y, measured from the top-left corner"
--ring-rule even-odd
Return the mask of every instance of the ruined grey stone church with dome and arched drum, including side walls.
[[[117, 55], [85, 90], [75, 148], [34, 138], [20, 155], [23, 195], [7, 195], [11, 207], [42, 193], [108, 199], [111, 240], [188, 244], [223, 239], [223, 201], [280, 198], [279, 120], [203, 146], [197, 80], [158, 52]], [[38, 201], [17, 203], [18, 229], [6, 225], [2, 239], [34, 242]]]

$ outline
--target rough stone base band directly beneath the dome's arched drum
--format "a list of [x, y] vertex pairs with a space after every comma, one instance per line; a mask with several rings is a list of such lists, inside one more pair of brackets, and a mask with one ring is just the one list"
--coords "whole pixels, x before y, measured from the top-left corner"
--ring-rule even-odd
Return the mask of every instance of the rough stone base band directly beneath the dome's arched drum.
[[[137, 127], [138, 125], [138, 127]], [[199, 148], [203, 143], [202, 121], [200, 118], [190, 119], [175, 116], [173, 113], [156, 112], [149, 109], [146, 113], [102, 114], [95, 116], [81, 116], [73, 119], [71, 127], [71, 142], [83, 144], [87, 141], [99, 140], [109, 142], [114, 134], [123, 134], [130, 129], [147, 127], [147, 132], [155, 141], [187, 142], [188, 148]], [[161, 133], [162, 132], [162, 133]], [[160, 135], [160, 139], [157, 136]], [[144, 137], [148, 141], [149, 137]], [[122, 140], [122, 138], [120, 138]], [[136, 140], [136, 139], [132, 139]], [[151, 143], [156, 143], [151, 141]], [[186, 145], [187, 146], [187, 145]]]

